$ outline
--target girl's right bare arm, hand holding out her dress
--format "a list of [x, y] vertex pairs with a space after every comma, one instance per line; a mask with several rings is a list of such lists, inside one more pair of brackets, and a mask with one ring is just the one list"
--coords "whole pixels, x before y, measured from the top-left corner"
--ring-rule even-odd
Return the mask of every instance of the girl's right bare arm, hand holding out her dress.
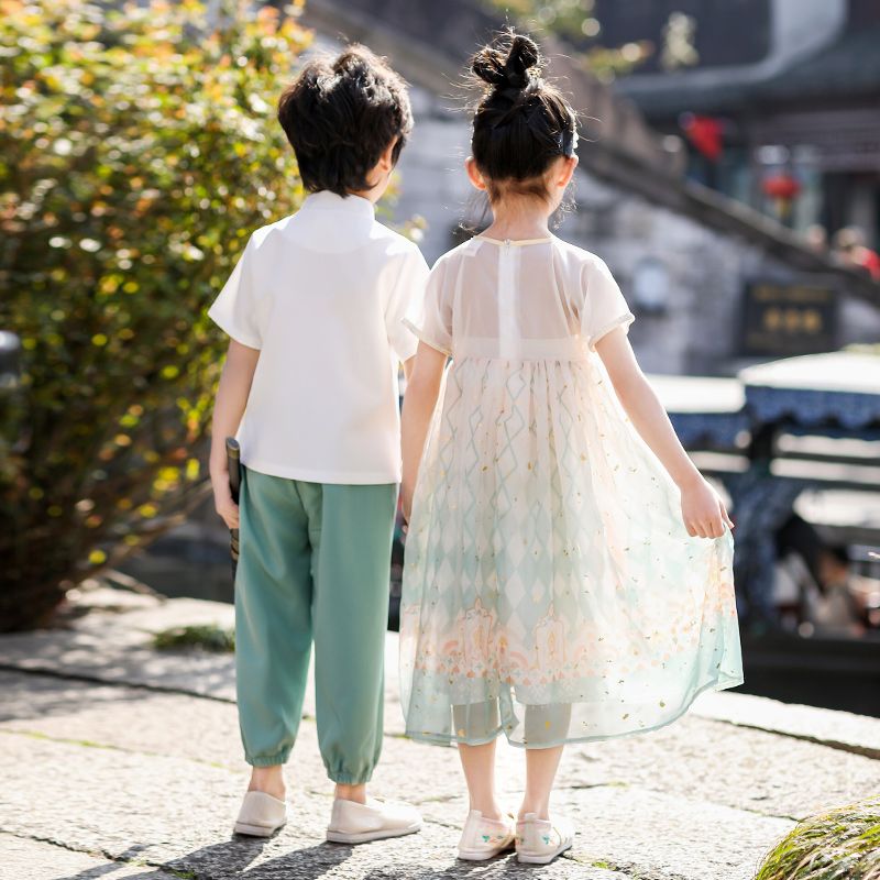
[[672, 422], [636, 361], [622, 329], [596, 343], [614, 391], [632, 426], [681, 490], [684, 525], [692, 537], [718, 538], [733, 526], [724, 503], [688, 457]]

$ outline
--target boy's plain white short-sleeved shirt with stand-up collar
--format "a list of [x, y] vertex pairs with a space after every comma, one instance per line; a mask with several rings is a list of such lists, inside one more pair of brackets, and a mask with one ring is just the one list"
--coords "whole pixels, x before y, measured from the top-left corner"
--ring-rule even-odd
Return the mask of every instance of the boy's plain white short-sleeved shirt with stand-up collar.
[[428, 265], [372, 202], [315, 193], [251, 235], [208, 311], [260, 350], [239, 430], [242, 462], [314, 483], [400, 480], [398, 362], [418, 339]]

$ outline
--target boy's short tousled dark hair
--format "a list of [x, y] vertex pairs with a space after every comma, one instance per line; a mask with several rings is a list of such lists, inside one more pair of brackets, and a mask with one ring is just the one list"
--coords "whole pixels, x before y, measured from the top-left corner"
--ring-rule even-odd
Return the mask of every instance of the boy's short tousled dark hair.
[[391, 143], [397, 162], [413, 111], [406, 82], [384, 58], [353, 44], [302, 68], [278, 101], [278, 122], [306, 189], [345, 196], [371, 188], [366, 175]]

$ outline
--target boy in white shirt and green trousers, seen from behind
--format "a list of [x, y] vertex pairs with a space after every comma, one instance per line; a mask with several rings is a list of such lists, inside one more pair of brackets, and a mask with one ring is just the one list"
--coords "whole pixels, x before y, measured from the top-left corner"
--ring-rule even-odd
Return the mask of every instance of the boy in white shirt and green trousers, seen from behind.
[[[278, 120], [311, 195], [253, 233], [208, 312], [231, 337], [211, 482], [227, 525], [241, 517], [237, 686], [253, 770], [235, 831], [267, 837], [286, 821], [282, 766], [314, 640], [318, 739], [337, 783], [327, 838], [365, 843], [421, 827], [413, 807], [366, 798], [383, 733], [397, 367], [417, 348], [402, 319], [428, 275], [418, 249], [376, 222], [374, 205], [413, 117], [403, 80], [354, 45], [310, 62]], [[237, 432], [240, 515], [224, 450]]]

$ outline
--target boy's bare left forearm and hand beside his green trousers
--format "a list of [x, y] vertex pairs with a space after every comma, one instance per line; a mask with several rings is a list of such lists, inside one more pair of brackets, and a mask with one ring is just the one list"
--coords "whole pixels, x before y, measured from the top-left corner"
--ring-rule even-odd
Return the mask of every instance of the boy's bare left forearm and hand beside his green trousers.
[[229, 490], [226, 443], [227, 437], [233, 437], [241, 425], [258, 360], [257, 349], [249, 349], [234, 339], [230, 340], [213, 404], [209, 460], [213, 502], [217, 513], [231, 529], [239, 527], [239, 506], [232, 501], [232, 493]]

